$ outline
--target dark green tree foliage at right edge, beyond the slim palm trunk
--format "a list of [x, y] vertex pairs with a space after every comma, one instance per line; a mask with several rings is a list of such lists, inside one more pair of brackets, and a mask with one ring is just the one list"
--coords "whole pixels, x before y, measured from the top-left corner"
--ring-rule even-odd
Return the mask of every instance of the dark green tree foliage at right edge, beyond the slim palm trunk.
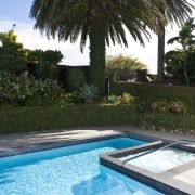
[[168, 40], [169, 44], [178, 42], [181, 49], [169, 51], [165, 55], [166, 70], [173, 78], [185, 78], [188, 84], [190, 79], [195, 79], [195, 24], [190, 18], [181, 27], [179, 35]]

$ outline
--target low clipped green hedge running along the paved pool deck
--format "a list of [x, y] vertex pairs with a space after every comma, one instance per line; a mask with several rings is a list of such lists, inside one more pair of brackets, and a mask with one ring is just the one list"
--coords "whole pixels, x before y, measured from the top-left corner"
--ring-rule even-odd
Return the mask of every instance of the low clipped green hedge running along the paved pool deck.
[[135, 105], [74, 105], [61, 107], [0, 107], [0, 134], [68, 127], [122, 126], [182, 131], [195, 130], [195, 115], [143, 113]]

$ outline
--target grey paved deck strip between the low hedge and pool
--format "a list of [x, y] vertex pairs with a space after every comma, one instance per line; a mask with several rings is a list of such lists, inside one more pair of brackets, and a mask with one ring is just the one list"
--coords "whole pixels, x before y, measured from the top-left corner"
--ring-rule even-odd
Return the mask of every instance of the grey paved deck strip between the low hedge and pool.
[[86, 138], [96, 138], [118, 133], [136, 133], [154, 139], [169, 141], [193, 140], [195, 136], [186, 136], [176, 133], [159, 132], [154, 130], [140, 129], [131, 126], [125, 127], [79, 127], [60, 130], [44, 130], [29, 133], [16, 133], [0, 135], [0, 152], [10, 151], [17, 147], [26, 147], [38, 144], [49, 144], [54, 142], [65, 142], [69, 140], [80, 140]]

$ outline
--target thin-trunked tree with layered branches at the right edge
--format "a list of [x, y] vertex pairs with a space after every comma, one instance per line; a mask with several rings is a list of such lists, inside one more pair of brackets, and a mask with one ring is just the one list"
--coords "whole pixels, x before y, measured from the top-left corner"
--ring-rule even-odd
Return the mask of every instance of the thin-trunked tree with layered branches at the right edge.
[[185, 24], [182, 26], [181, 30], [179, 31], [179, 36], [173, 37], [168, 40], [168, 44], [172, 44], [173, 42], [178, 42], [182, 46], [182, 53], [183, 56], [183, 70], [184, 76], [186, 78], [186, 86], [188, 84], [188, 76], [186, 70], [187, 65], [187, 55], [191, 52], [191, 49], [195, 47], [195, 35], [193, 31], [195, 30], [195, 24], [193, 24], [194, 20], [190, 18]]

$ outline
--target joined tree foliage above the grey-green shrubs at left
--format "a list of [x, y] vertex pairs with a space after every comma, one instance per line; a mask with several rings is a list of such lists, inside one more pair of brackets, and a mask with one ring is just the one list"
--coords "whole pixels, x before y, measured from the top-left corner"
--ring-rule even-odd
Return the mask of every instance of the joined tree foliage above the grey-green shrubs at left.
[[52, 78], [53, 69], [62, 61], [61, 51], [28, 50], [17, 42], [14, 30], [0, 32], [0, 70], [11, 74], [28, 70], [36, 78]]

